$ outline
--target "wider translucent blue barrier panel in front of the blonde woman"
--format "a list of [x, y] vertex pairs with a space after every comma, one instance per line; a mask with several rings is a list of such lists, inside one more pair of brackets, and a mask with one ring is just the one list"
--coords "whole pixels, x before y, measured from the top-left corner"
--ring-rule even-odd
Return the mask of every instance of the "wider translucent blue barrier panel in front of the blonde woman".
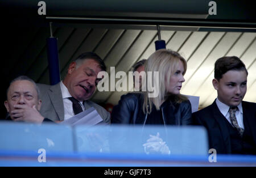
[[208, 155], [208, 136], [200, 126], [77, 126], [78, 152]]

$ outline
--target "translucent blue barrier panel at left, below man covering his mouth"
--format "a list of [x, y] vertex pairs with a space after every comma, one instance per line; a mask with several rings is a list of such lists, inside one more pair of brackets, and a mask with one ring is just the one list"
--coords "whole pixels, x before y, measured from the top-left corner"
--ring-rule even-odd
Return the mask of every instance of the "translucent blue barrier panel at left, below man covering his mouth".
[[72, 128], [57, 124], [0, 122], [0, 150], [73, 151]]

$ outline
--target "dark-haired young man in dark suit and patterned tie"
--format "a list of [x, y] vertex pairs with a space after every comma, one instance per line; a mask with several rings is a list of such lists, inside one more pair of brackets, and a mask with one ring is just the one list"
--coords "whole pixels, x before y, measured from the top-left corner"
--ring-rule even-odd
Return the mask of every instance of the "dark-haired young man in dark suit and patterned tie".
[[256, 154], [256, 103], [242, 101], [247, 75], [238, 57], [219, 58], [212, 80], [217, 99], [192, 115], [196, 125], [207, 129], [209, 148], [217, 154]]

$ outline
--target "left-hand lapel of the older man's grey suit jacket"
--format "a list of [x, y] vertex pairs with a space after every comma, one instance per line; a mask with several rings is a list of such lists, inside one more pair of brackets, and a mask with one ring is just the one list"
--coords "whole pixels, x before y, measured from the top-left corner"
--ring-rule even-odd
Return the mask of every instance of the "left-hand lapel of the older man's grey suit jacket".
[[64, 104], [60, 90], [60, 83], [51, 86], [48, 91], [49, 98], [51, 99], [53, 108], [55, 109], [59, 119], [64, 120]]

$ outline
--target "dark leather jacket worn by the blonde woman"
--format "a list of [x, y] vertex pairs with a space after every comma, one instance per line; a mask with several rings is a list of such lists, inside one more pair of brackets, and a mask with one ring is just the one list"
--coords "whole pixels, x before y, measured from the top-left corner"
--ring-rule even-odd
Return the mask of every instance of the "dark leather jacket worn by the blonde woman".
[[[167, 99], [157, 111], [152, 107], [150, 114], [143, 113], [143, 95], [129, 93], [122, 95], [112, 111], [112, 123], [116, 124], [163, 124], [191, 125], [191, 103], [189, 100], [174, 103]], [[155, 123], [157, 122], [157, 123]]]

